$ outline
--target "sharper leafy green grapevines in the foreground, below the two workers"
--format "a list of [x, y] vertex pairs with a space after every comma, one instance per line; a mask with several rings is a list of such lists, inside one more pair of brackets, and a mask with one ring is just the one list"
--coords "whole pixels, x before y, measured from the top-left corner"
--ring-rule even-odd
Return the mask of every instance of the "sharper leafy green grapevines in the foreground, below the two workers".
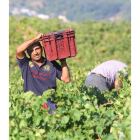
[[[65, 85], [58, 81], [56, 92], [47, 90], [38, 97], [33, 92], [23, 92], [21, 79], [10, 84], [10, 139], [131, 138], [130, 81], [122, 76], [123, 87], [119, 91], [100, 93], [84, 86], [83, 69], [71, 72], [72, 82]], [[48, 114], [50, 108], [41, 107], [48, 97], [59, 105], [52, 115]], [[112, 104], [101, 106], [107, 102]]]

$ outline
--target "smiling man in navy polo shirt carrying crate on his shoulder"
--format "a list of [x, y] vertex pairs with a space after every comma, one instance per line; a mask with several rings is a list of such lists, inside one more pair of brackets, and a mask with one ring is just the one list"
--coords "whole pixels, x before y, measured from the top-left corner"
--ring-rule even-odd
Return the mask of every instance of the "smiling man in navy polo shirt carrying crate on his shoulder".
[[[48, 89], [56, 89], [56, 78], [65, 83], [70, 82], [69, 69], [65, 59], [60, 60], [60, 66], [56, 61], [50, 62], [42, 56], [43, 49], [39, 42], [42, 41], [42, 37], [43, 34], [40, 33], [16, 49], [17, 63], [24, 79], [24, 92], [32, 91], [37, 96], [42, 95]], [[25, 51], [30, 58], [27, 58]], [[53, 110], [56, 109], [50, 99], [48, 99], [47, 105]]]

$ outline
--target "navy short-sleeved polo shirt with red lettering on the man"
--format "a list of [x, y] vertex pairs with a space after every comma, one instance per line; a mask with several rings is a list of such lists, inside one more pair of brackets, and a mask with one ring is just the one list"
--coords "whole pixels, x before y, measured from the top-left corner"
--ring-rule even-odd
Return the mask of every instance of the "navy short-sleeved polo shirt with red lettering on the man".
[[56, 89], [56, 77], [61, 80], [62, 68], [56, 62], [46, 60], [39, 67], [31, 58], [17, 58], [24, 79], [24, 92], [33, 91], [37, 96], [48, 89]]

